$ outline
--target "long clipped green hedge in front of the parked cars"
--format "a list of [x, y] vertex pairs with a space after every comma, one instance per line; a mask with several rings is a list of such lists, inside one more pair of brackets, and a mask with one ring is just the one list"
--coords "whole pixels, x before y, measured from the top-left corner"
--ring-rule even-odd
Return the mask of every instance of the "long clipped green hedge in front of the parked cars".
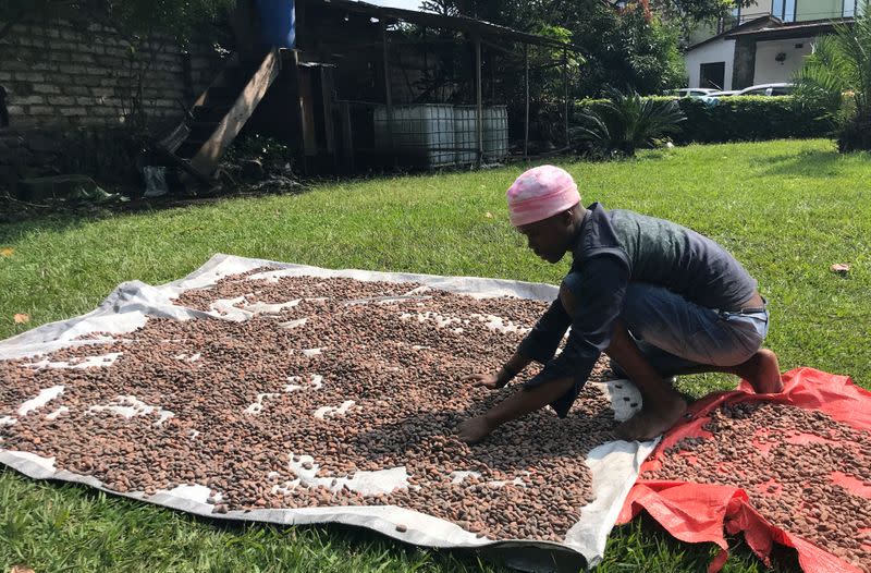
[[[833, 124], [822, 109], [797, 106], [792, 96], [733, 96], [706, 102], [701, 98], [650, 96], [676, 99], [687, 120], [672, 138], [676, 144], [725, 143], [830, 135]], [[602, 99], [576, 102], [575, 112], [596, 109]]]

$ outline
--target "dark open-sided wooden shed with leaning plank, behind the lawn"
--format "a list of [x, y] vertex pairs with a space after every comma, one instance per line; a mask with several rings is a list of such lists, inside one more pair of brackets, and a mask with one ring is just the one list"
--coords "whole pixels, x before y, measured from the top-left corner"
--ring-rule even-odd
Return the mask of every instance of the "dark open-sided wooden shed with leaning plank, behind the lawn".
[[[506, 103], [499, 101], [499, 82], [524, 83], [524, 125], [512, 130], [523, 133], [526, 155], [529, 46], [560, 54], [552, 65], [563, 65], [568, 115], [566, 62], [575, 50], [569, 44], [471, 17], [354, 0], [296, 0], [294, 8], [294, 46], [274, 48], [257, 41], [253, 3], [240, 2], [234, 27], [245, 44], [162, 142], [188, 172], [210, 176], [243, 126], [286, 143], [311, 172], [414, 163], [407, 137], [394, 133], [396, 121], [417, 118], [420, 107], [447, 125], [442, 109], [421, 107], [428, 105], [457, 107], [469, 118], [477, 134], [449, 137], [440, 151], [470, 154], [480, 164], [486, 159], [486, 106]], [[515, 76], [495, 77], [499, 59], [518, 63]], [[566, 121], [566, 142], [567, 130]]]

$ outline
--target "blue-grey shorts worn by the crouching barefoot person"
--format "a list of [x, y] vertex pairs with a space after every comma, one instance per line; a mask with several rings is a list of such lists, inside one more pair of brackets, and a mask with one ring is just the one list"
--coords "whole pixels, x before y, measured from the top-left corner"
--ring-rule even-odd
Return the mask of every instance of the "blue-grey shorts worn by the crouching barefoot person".
[[663, 375], [741, 364], [762, 346], [770, 320], [768, 305], [717, 310], [642, 282], [629, 283], [621, 318], [641, 353]]

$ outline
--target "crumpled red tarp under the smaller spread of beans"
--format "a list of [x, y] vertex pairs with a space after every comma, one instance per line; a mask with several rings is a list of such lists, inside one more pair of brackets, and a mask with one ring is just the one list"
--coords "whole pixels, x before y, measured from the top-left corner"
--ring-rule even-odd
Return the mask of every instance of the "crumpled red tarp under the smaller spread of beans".
[[[691, 418], [678, 423], [663, 436], [662, 441], [641, 466], [641, 472], [661, 467], [660, 458], [687, 437], [711, 436], [702, 429], [708, 414], [723, 404], [740, 402], [777, 402], [807, 410], [819, 410], [832, 418], [861, 430], [871, 430], [871, 392], [859, 388], [846, 376], [826, 374], [813, 368], [797, 368], [783, 375], [784, 391], [780, 394], [755, 394], [746, 381], [738, 390], [710, 394], [695, 402]], [[850, 476], [833, 476], [863, 497], [871, 497], [871, 488], [862, 486]], [[812, 573], [857, 572], [859, 570], [812, 545], [801, 537], [769, 523], [748, 502], [747, 493], [733, 486], [694, 484], [687, 481], [646, 480], [641, 477], [629, 491], [623, 505], [618, 524], [628, 523], [641, 510], [647, 511], [668, 533], [688, 542], [709, 541], [722, 550], [709, 566], [719, 571], [728, 557], [724, 532], [735, 535], [743, 532], [747, 545], [769, 564], [772, 544], [794, 547], [803, 571]]]

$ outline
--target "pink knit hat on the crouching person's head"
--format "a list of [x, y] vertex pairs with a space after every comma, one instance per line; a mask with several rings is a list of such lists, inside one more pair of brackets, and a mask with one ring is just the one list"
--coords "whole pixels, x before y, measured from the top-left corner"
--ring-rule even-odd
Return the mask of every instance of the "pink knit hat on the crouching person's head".
[[572, 175], [554, 166], [533, 167], [508, 187], [511, 224], [520, 227], [553, 217], [580, 203]]

